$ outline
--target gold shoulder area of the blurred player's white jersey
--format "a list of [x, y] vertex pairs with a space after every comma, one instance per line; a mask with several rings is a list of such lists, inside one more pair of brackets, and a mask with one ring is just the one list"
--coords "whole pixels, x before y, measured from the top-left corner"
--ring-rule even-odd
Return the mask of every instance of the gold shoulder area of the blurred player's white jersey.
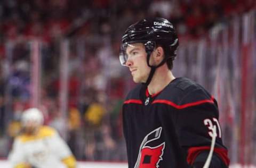
[[38, 139], [43, 139], [46, 137], [52, 137], [54, 135], [57, 135], [57, 131], [54, 128], [48, 127], [48, 126], [42, 126], [39, 128], [37, 135], [26, 135], [25, 133], [22, 133], [20, 136], [17, 137], [17, 140], [20, 142], [28, 142]]

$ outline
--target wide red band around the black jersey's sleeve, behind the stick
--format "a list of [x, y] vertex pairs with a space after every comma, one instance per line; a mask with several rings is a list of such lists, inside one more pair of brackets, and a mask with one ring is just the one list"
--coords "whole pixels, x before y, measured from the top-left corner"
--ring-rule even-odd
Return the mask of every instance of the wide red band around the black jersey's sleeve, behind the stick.
[[[210, 150], [210, 146], [191, 147], [188, 149], [187, 162], [192, 165], [195, 162], [196, 157], [204, 150]], [[228, 150], [225, 148], [214, 148], [214, 153], [217, 154], [222, 161], [228, 166]]]

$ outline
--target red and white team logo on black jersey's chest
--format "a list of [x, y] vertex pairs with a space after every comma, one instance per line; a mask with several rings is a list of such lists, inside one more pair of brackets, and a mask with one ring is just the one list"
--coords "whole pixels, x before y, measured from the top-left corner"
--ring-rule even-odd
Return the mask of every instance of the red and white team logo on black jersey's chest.
[[158, 168], [159, 162], [162, 161], [164, 154], [165, 142], [151, 147], [147, 146], [149, 142], [157, 140], [161, 137], [162, 127], [150, 132], [141, 142], [140, 151], [134, 168]]

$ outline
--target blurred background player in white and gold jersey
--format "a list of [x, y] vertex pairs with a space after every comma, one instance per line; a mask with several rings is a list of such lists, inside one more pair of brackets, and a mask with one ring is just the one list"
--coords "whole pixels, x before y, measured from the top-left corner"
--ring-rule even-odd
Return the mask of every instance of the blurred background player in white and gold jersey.
[[22, 132], [14, 139], [9, 161], [15, 168], [76, 167], [76, 159], [66, 142], [53, 128], [43, 126], [43, 115], [37, 108], [24, 111]]

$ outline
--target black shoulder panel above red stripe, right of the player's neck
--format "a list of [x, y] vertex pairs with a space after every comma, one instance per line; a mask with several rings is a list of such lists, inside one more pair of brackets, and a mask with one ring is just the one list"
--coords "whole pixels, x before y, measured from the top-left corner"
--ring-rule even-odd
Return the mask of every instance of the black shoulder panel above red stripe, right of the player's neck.
[[188, 78], [176, 78], [158, 96], [177, 105], [211, 100], [212, 96], [201, 85]]

